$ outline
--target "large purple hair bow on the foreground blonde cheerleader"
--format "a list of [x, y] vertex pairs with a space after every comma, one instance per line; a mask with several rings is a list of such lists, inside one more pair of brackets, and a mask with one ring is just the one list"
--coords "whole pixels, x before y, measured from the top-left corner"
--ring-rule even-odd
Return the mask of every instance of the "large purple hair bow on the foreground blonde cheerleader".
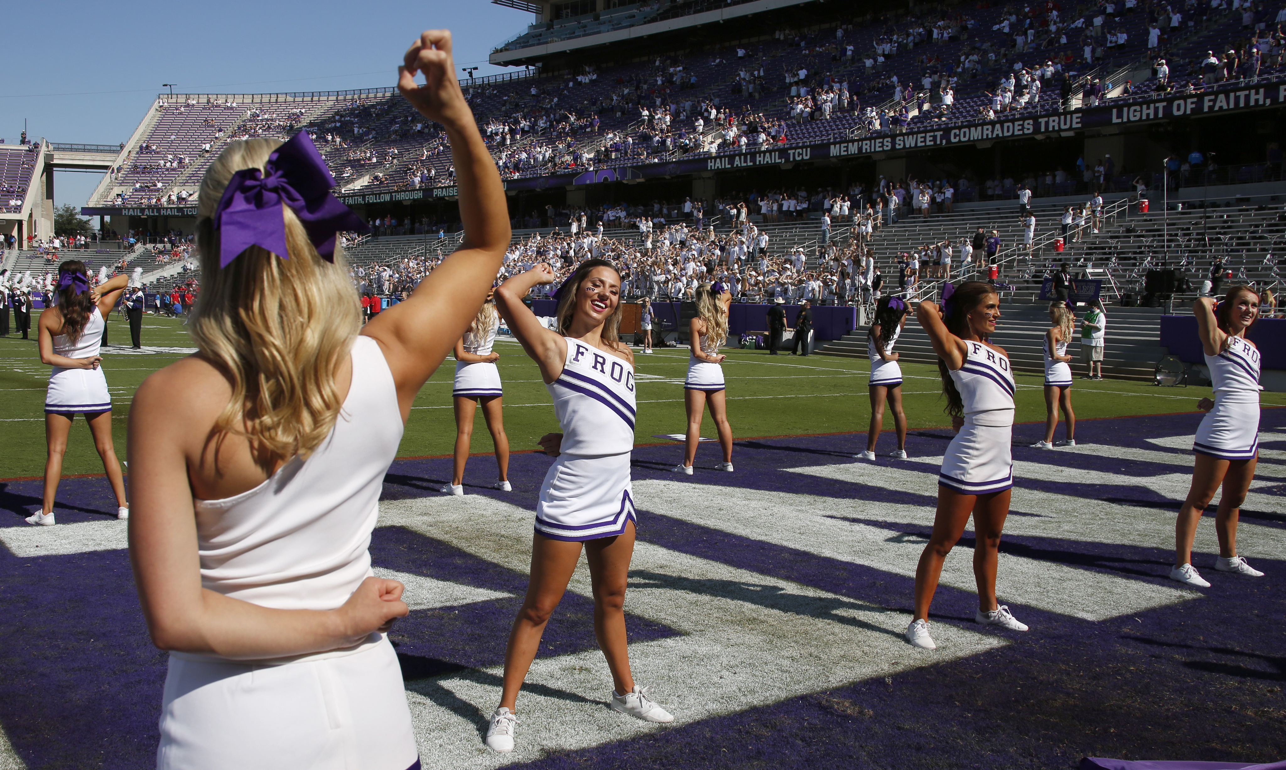
[[342, 230], [365, 231], [367, 224], [351, 208], [331, 194], [334, 177], [306, 131], [276, 148], [258, 168], [233, 174], [219, 208], [219, 266], [226, 267], [243, 251], [260, 246], [283, 260], [285, 247], [283, 206], [289, 206], [318, 253], [334, 262], [334, 234]]

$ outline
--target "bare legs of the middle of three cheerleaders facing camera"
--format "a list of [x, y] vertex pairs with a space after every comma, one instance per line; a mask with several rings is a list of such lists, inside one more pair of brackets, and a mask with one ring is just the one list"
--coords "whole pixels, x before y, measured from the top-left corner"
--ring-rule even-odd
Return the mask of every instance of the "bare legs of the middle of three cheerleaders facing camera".
[[970, 514], [974, 515], [974, 580], [977, 582], [977, 608], [980, 612], [997, 609], [995, 571], [1001, 548], [1001, 532], [1010, 514], [1010, 496], [1013, 490], [988, 495], [964, 495], [945, 486], [937, 487], [937, 515], [934, 532], [928, 536], [925, 553], [916, 567], [916, 616], [928, 620], [928, 605], [937, 590], [946, 554], [964, 532]]

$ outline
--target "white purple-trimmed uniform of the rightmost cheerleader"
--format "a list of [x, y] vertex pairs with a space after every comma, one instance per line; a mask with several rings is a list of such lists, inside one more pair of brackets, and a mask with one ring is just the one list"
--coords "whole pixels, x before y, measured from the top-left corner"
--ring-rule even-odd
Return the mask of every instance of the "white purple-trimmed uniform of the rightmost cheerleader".
[[1224, 460], [1259, 456], [1259, 348], [1228, 337], [1228, 350], [1205, 359], [1214, 409], [1201, 418], [1192, 451]]

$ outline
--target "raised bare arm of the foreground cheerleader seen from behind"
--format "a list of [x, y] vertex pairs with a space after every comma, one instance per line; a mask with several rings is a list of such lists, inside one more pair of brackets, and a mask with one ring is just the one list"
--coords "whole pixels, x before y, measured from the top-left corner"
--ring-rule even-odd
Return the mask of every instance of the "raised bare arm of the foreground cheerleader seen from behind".
[[[509, 208], [451, 62], [451, 33], [430, 30], [397, 68], [397, 90], [424, 117], [442, 123], [451, 144], [464, 243], [421, 282], [410, 300], [381, 312], [361, 330], [385, 351], [403, 419], [412, 401], [464, 334], [500, 271], [509, 246]], [[415, 73], [424, 85], [415, 84]]]

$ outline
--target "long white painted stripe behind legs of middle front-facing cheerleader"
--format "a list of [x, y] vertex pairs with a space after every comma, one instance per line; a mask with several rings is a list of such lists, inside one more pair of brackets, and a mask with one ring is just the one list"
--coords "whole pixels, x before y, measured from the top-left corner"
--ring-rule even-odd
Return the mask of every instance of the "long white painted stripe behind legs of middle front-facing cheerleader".
[[[817, 470], [819, 469], [796, 472]], [[903, 519], [932, 526], [935, 513], [931, 506], [674, 481], [640, 481], [634, 488], [638, 506], [644, 512], [907, 577], [916, 575], [925, 540], [900, 537], [881, 527], [842, 521], [842, 517], [885, 518], [890, 510], [896, 510]], [[999, 558], [997, 593], [1002, 603], [1013, 602], [1089, 621], [1164, 607], [1197, 595], [1177, 587], [1156, 586], [1006, 553]], [[941, 581], [944, 585], [976, 593], [972, 559], [962, 554], [949, 558], [943, 568]]]

